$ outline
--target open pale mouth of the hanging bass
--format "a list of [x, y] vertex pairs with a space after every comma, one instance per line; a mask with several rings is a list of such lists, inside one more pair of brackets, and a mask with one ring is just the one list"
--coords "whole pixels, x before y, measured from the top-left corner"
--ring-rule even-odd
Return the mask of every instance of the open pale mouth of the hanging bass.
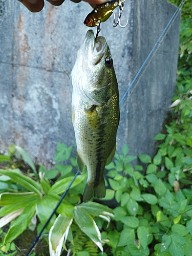
[[95, 39], [93, 30], [88, 30], [83, 41], [84, 52], [93, 65], [97, 65], [107, 50], [106, 40], [103, 36]]

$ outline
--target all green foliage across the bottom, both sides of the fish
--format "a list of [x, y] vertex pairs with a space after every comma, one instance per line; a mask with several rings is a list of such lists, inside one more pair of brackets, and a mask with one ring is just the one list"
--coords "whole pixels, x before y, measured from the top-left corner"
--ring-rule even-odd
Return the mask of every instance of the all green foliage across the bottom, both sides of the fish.
[[[174, 108], [179, 111], [178, 105]], [[123, 146], [122, 155], [115, 155], [114, 162], [107, 166], [106, 184], [111, 188], [104, 198], [114, 198], [119, 203], [114, 210], [95, 202], [81, 203], [86, 174], [77, 176], [44, 231], [49, 232], [50, 255], [61, 252], [62, 247], [77, 256], [96, 256], [99, 251], [109, 256], [190, 255], [192, 153], [186, 142], [188, 137], [180, 138], [174, 129], [176, 125], [166, 125], [167, 134], [155, 137], [158, 141], [161, 138], [161, 144], [153, 159], [144, 154], [138, 156], [142, 164], [147, 164], [145, 174], [142, 165], [132, 167], [135, 157], [127, 154], [127, 146]], [[181, 135], [182, 132], [180, 129]], [[63, 154], [68, 154], [67, 159], [75, 165], [70, 158], [71, 148], [70, 154], [66, 153], [66, 146], [59, 144], [60, 148], [65, 148]], [[60, 155], [58, 159], [64, 158]], [[46, 177], [50, 170], [42, 165], [38, 180], [18, 168], [0, 169], [0, 177], [8, 177], [9, 182], [20, 186], [16, 193], [1, 194], [0, 216], [6, 222], [10, 214], [16, 214], [3, 238], [3, 249], [27, 227], [34, 230], [31, 220], [35, 213], [39, 221], [36, 228], [40, 231], [74, 177], [72, 169], [72, 165], [56, 163], [53, 170], [58, 178], [54, 184]]]

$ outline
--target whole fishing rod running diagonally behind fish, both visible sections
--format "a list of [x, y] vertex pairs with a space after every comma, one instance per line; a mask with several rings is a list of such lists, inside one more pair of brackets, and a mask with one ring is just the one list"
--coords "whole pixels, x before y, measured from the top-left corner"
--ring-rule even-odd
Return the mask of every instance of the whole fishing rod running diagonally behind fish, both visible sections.
[[[133, 79], [132, 83], [130, 84], [129, 88], [126, 90], [125, 94], [123, 95], [122, 99], [119, 102], [119, 105], [122, 104], [122, 102], [124, 101], [125, 97], [127, 96], [127, 94], [129, 93], [129, 91], [131, 90], [131, 88], [133, 87], [133, 85], [135, 84], [136, 80], [138, 79], [139, 75], [143, 73], [144, 71], [144, 67], [147, 65], [148, 60], [151, 59], [151, 57], [153, 56], [153, 54], [155, 53], [161, 39], [164, 38], [164, 36], [166, 35], [168, 28], [170, 27], [170, 25], [174, 22], [176, 15], [178, 14], [181, 5], [184, 3], [185, 0], [182, 0], [182, 2], [180, 3], [180, 5], [178, 6], [178, 8], [176, 9], [175, 13], [173, 14], [172, 18], [170, 18], [169, 22], [167, 23], [165, 29], [163, 30], [163, 32], [161, 33], [160, 37], [158, 38], [158, 40], [156, 41], [154, 47], [152, 48], [151, 52], [148, 54], [148, 56], [146, 57], [145, 61], [143, 62], [143, 65], [141, 66], [141, 68], [139, 69], [139, 71], [137, 72], [135, 78]], [[149, 63], [149, 62], [148, 62]], [[141, 77], [141, 76], [140, 76]], [[77, 173], [75, 174], [75, 176], [73, 177], [72, 181], [70, 182], [69, 186], [67, 187], [66, 191], [63, 193], [62, 197], [60, 198], [60, 200], [58, 201], [57, 205], [55, 206], [55, 208], [52, 211], [52, 214], [50, 215], [49, 219], [46, 221], [45, 225], [42, 227], [42, 229], [40, 230], [40, 232], [38, 233], [36, 239], [34, 240], [33, 244], [31, 245], [30, 249], [28, 250], [26, 256], [28, 256], [30, 254], [30, 252], [32, 251], [33, 247], [35, 246], [35, 244], [37, 243], [37, 241], [39, 240], [42, 232], [44, 231], [44, 229], [47, 227], [48, 223], [50, 222], [51, 218], [53, 217], [53, 215], [55, 214], [57, 208], [59, 207], [60, 203], [62, 202], [63, 198], [65, 198], [65, 196], [67, 195], [71, 185], [73, 184], [74, 180], [76, 179], [77, 175], [79, 174], [79, 170], [77, 171]]]

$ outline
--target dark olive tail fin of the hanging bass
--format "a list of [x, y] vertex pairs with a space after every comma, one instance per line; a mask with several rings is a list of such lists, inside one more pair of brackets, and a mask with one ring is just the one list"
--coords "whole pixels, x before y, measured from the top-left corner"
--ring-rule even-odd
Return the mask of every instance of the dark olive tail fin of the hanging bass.
[[97, 185], [88, 182], [86, 188], [84, 189], [83, 202], [88, 202], [92, 198], [103, 198], [105, 197], [106, 189], [104, 185], [104, 179]]

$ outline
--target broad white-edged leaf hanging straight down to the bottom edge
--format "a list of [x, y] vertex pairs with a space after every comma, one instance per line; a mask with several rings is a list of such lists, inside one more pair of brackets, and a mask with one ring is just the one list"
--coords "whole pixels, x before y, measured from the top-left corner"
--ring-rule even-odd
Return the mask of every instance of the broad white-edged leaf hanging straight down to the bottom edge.
[[62, 243], [68, 237], [69, 228], [73, 218], [59, 215], [49, 231], [49, 251], [50, 256], [61, 254]]

